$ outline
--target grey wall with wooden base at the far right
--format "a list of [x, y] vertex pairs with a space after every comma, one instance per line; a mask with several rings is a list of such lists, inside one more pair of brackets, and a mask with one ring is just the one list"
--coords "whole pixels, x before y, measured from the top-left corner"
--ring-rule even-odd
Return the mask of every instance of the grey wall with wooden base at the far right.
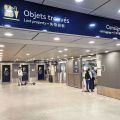
[[104, 70], [98, 77], [98, 94], [120, 99], [120, 51], [100, 54]]

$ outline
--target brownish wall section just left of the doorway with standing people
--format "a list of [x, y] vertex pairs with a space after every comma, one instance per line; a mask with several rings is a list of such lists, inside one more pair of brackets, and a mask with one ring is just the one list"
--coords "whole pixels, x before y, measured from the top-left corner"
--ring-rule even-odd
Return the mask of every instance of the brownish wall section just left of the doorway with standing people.
[[81, 61], [77, 59], [79, 62], [79, 73], [74, 73], [74, 60], [69, 60], [66, 65], [67, 71], [67, 85], [75, 88], [82, 87], [82, 79], [81, 79]]

